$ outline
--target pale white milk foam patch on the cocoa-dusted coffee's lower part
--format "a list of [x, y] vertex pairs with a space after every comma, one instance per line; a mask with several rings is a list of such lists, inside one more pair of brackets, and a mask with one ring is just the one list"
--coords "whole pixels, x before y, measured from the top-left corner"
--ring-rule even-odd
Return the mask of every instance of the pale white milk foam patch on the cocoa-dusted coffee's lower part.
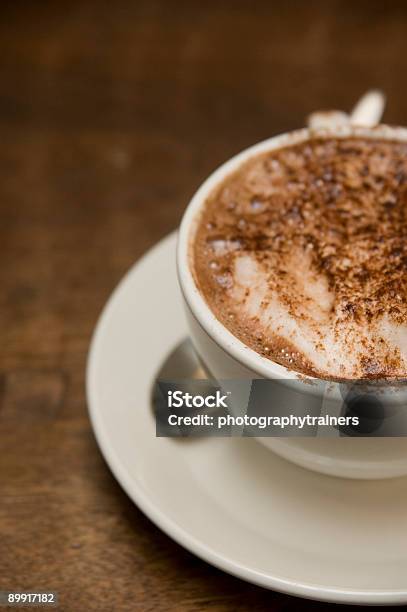
[[[295, 347], [315, 370], [334, 378], [363, 377], [363, 357], [383, 362], [397, 354], [401, 373], [407, 370], [406, 324], [397, 325], [387, 316], [369, 325], [343, 322], [341, 312], [334, 310], [335, 296], [326, 278], [312, 269], [311, 259], [293, 256], [291, 263], [287, 289], [277, 292], [270, 289], [270, 270], [250, 253], [237, 255], [230, 289], [234, 311], [252, 321], [264, 337], [278, 336], [288, 363]], [[297, 296], [295, 312], [287, 305], [292, 295]], [[284, 349], [284, 341], [290, 348]]]

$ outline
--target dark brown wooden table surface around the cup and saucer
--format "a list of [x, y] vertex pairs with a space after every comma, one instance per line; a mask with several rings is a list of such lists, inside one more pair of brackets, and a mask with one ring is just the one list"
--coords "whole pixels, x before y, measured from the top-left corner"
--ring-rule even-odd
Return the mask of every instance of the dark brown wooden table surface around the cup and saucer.
[[113, 287], [220, 162], [371, 86], [407, 120], [406, 34], [394, 0], [2, 4], [0, 588], [73, 612], [327, 608], [210, 567], [134, 507], [85, 363]]

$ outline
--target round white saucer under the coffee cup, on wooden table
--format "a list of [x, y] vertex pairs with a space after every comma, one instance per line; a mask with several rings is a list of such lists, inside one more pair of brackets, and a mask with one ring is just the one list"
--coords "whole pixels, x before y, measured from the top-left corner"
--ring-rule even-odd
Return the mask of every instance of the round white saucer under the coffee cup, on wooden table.
[[407, 602], [407, 479], [352, 481], [296, 467], [253, 439], [155, 437], [154, 376], [187, 336], [175, 235], [108, 301], [87, 372], [99, 446], [170, 537], [255, 584], [314, 599]]

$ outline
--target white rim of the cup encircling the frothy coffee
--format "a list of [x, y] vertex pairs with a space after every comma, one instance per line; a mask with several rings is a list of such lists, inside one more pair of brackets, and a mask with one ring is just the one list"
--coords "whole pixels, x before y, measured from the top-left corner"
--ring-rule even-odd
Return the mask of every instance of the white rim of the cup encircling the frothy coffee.
[[236, 171], [251, 157], [268, 151], [273, 151], [294, 144], [299, 144], [313, 138], [380, 138], [384, 140], [407, 141], [407, 129], [398, 126], [380, 124], [374, 127], [362, 127], [352, 124], [327, 126], [323, 128], [302, 128], [267, 138], [224, 162], [201, 184], [190, 200], [179, 228], [177, 242], [177, 274], [185, 301], [195, 319], [226, 353], [233, 359], [252, 370], [260, 378], [274, 378], [284, 380], [301, 380], [315, 384], [325, 380], [310, 376], [287, 367], [257, 353], [217, 319], [210, 306], [201, 294], [191, 269], [191, 243], [193, 241], [200, 211], [210, 193], [220, 185], [224, 179]]

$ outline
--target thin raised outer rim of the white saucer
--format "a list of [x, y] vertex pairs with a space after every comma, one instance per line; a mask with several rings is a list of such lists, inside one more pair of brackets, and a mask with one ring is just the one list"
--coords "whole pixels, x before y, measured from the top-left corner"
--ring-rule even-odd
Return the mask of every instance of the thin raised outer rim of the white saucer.
[[[129, 279], [133, 277], [133, 275], [137, 274], [138, 268], [147, 263], [151, 256], [156, 254], [159, 250], [164, 251], [165, 249], [174, 249], [175, 253], [176, 234], [176, 231], [171, 232], [169, 235], [158, 241], [125, 273], [117, 286], [113, 289], [101, 313], [99, 314], [90, 342], [86, 366], [86, 398], [88, 414], [101, 454], [115, 479], [118, 481], [129, 498], [135, 503], [135, 505], [167, 536], [205, 562], [231, 574], [232, 576], [246, 580], [247, 582], [263, 588], [311, 600], [372, 605], [397, 605], [406, 603], [407, 590], [382, 589], [375, 591], [327, 587], [324, 585], [306, 583], [302, 581], [296, 582], [287, 580], [285, 578], [259, 572], [252, 569], [250, 566], [237, 563], [233, 560], [233, 558], [216, 552], [204, 542], [188, 533], [172, 519], [169, 519], [165, 513], [160, 510], [158, 504], [155, 504], [154, 500], [151, 499], [147, 492], [142, 489], [140, 483], [130, 476], [125, 466], [121, 465], [120, 457], [109, 439], [109, 432], [104, 428], [103, 420], [100, 418], [99, 412], [99, 403], [97, 399], [97, 362], [100, 355], [101, 342], [106, 331], [109, 318], [112, 316], [112, 312], [114, 311], [114, 305], [125, 291]], [[147, 418], [148, 410], [144, 411], [143, 414], [145, 414], [145, 418]]]

